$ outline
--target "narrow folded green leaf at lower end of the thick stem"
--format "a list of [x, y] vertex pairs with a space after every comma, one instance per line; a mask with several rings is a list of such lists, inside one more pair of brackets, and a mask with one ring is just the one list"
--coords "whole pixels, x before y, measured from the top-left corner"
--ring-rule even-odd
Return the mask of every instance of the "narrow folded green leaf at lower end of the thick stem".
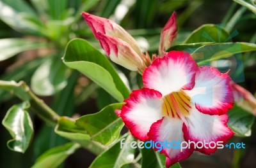
[[92, 151], [95, 155], [99, 155], [105, 146], [92, 141], [90, 136], [86, 134], [85, 130], [76, 126], [72, 118], [61, 116], [58, 120], [58, 125], [55, 127], [56, 134], [81, 144], [83, 148]]

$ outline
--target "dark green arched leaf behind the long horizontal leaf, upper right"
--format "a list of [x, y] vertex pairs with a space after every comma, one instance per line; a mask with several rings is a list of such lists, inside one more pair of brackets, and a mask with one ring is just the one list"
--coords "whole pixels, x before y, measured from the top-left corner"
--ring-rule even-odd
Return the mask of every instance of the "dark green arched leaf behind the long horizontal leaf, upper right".
[[188, 43], [214, 42], [224, 43], [231, 39], [228, 32], [221, 28], [220, 25], [205, 24], [191, 32], [189, 37], [184, 41]]

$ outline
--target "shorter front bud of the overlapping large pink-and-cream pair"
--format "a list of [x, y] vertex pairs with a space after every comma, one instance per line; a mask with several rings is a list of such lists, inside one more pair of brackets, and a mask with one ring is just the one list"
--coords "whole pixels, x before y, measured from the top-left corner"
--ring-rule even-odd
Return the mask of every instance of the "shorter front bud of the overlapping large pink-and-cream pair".
[[143, 71], [145, 69], [141, 57], [125, 41], [100, 32], [98, 32], [97, 37], [100, 45], [113, 62], [131, 71]]

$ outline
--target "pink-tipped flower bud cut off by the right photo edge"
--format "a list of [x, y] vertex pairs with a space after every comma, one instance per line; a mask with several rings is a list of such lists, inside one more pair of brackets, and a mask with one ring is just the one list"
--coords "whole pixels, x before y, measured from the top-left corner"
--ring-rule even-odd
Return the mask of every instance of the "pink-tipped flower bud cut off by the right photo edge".
[[237, 105], [256, 116], [255, 97], [248, 90], [237, 85], [233, 81], [230, 83], [230, 87], [233, 91]]

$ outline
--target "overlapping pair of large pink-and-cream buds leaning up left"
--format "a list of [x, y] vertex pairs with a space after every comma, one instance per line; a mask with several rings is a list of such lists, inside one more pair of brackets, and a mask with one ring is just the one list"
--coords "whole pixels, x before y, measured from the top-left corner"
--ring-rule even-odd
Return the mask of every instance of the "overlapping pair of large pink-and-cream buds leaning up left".
[[107, 18], [86, 12], [81, 14], [113, 62], [131, 71], [143, 73], [146, 65], [151, 63], [150, 57], [141, 52], [136, 40], [127, 31]]

